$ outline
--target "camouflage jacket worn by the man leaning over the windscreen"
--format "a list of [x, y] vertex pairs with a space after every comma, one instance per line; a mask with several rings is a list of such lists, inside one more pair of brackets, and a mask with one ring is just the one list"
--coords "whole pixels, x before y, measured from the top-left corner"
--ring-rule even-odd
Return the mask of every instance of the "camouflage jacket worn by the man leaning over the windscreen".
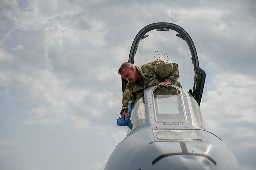
[[135, 66], [140, 75], [144, 80], [144, 88], [139, 86], [136, 82], [128, 82], [126, 85], [125, 92], [122, 94], [122, 110], [120, 115], [125, 117], [128, 112], [128, 101], [132, 100], [131, 105], [133, 106], [135, 100], [145, 89], [158, 85], [161, 82], [170, 82], [172, 85], [181, 87], [181, 84], [177, 81], [179, 78], [179, 67], [178, 64], [163, 62], [162, 60], [151, 61], [140, 67]]

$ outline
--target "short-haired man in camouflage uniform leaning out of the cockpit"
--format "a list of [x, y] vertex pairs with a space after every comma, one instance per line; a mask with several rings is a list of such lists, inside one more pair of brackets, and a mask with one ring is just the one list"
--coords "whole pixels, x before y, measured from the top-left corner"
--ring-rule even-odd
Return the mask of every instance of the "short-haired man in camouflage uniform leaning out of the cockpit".
[[118, 70], [128, 83], [125, 92], [122, 94], [122, 110], [120, 115], [127, 119], [128, 116], [128, 101], [132, 100], [131, 105], [145, 89], [158, 85], [176, 85], [181, 87], [177, 81], [179, 78], [178, 64], [163, 62], [162, 60], [151, 61], [142, 66], [134, 66], [131, 63], [125, 62]]

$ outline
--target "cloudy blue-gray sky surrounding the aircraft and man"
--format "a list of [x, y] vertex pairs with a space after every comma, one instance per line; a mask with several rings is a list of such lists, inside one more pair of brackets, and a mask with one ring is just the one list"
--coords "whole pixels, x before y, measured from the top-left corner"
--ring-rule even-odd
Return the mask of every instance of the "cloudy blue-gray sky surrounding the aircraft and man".
[[0, 1], [0, 169], [102, 170], [125, 138], [117, 74], [155, 22], [192, 38], [200, 108], [242, 170], [256, 169], [256, 1]]

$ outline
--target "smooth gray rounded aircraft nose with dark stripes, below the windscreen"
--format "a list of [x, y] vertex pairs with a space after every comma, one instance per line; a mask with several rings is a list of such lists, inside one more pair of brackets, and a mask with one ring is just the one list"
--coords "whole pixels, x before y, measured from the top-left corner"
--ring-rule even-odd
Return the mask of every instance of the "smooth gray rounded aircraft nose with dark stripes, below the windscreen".
[[125, 138], [112, 152], [105, 170], [240, 169], [215, 135], [194, 129], [144, 129]]

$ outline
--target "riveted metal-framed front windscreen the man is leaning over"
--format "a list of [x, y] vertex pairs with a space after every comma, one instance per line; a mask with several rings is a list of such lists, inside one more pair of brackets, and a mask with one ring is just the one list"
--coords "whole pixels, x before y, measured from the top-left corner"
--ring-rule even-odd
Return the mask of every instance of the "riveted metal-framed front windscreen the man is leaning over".
[[144, 128], [203, 129], [202, 112], [196, 100], [177, 86], [153, 86], [135, 101], [127, 135]]

